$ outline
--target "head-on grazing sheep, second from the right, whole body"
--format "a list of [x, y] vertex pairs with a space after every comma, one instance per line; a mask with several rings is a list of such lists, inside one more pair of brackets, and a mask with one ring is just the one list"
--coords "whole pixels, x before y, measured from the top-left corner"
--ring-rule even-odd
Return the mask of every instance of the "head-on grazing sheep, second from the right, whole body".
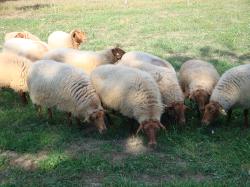
[[188, 60], [179, 71], [179, 81], [185, 97], [198, 104], [201, 114], [220, 78], [212, 64], [202, 60]]

